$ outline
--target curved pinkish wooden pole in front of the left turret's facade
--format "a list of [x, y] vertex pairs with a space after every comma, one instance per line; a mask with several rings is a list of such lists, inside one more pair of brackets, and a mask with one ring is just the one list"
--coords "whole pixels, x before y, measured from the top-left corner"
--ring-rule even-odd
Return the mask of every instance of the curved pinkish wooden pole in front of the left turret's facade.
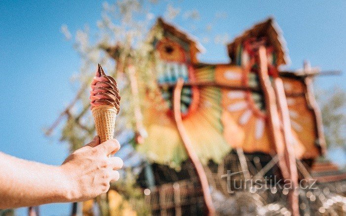
[[188, 156], [194, 166], [194, 169], [197, 173], [198, 179], [200, 181], [202, 192], [203, 192], [203, 198], [204, 203], [207, 208], [207, 214], [208, 216], [214, 216], [215, 215], [215, 209], [214, 205], [211, 199], [211, 194], [209, 190], [209, 184], [207, 180], [207, 176], [204, 172], [203, 166], [201, 162], [198, 159], [197, 154], [194, 152], [194, 149], [192, 147], [191, 140], [189, 138], [189, 135], [184, 127], [182, 114], [180, 110], [181, 106], [181, 92], [183, 89], [184, 81], [183, 79], [179, 79], [177, 82], [177, 85], [175, 86], [174, 93], [173, 93], [173, 112], [174, 112], [174, 119], [177, 124], [177, 128], [180, 134], [180, 137], [182, 138], [184, 147], [186, 149], [186, 152], [188, 153]]

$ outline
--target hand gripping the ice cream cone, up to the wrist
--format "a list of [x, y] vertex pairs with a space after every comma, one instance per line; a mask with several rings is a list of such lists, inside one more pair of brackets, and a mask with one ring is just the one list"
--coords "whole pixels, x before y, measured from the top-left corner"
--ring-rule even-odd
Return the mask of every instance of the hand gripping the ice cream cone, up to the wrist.
[[123, 165], [119, 157], [107, 157], [120, 148], [117, 140], [112, 139], [100, 144], [99, 137], [79, 148], [66, 158], [60, 166], [66, 176], [68, 199], [70, 202], [92, 199], [110, 188], [110, 181], [119, 179]]

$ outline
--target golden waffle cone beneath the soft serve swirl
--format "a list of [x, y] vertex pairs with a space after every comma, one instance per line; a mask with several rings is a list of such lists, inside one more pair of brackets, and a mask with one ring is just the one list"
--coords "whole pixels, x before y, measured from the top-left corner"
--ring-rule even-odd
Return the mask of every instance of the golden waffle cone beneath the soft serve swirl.
[[113, 139], [116, 108], [109, 105], [100, 105], [91, 109], [95, 121], [96, 133], [101, 143]]

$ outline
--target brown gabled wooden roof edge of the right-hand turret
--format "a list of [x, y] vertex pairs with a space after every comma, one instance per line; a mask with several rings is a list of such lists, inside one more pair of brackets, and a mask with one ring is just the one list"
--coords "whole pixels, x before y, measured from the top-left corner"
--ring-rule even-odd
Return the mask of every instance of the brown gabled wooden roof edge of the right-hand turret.
[[250, 37], [262, 36], [267, 36], [270, 43], [273, 45], [275, 52], [277, 53], [277, 65], [280, 66], [288, 64], [290, 60], [287, 55], [286, 41], [281, 35], [279, 26], [271, 17], [263, 22], [257, 23], [243, 32], [240, 36], [235, 37], [233, 41], [227, 45], [231, 60], [234, 61], [235, 59], [238, 44], [244, 42], [244, 40]]

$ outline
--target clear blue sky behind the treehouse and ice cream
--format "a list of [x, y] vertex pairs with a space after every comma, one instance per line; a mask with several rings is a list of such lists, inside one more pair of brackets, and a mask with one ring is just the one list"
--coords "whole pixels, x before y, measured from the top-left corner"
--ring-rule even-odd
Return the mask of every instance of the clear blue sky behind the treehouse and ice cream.
[[[154, 8], [155, 15], [165, 11], [162, 5], [166, 2]], [[272, 15], [287, 41], [292, 60], [288, 68], [300, 68], [308, 59], [323, 70], [342, 70], [342, 76], [318, 78], [315, 84], [346, 89], [346, 1], [180, 0], [172, 4], [182, 10], [197, 9], [201, 15], [197, 27], [213, 20], [216, 13], [226, 13], [213, 32], [228, 33], [229, 40]], [[65, 41], [60, 28], [66, 24], [73, 35], [84, 24], [95, 29], [101, 5], [102, 1], [91, 0], [0, 1], [0, 151], [47, 164], [62, 163], [68, 145], [42, 132], [72, 99], [69, 78], [80, 67], [72, 42]], [[190, 28], [184, 19], [175, 22]], [[200, 57], [203, 62], [228, 61], [225, 46], [203, 45], [207, 50]], [[70, 207], [44, 205], [41, 214], [68, 215]], [[18, 211], [18, 215], [25, 214], [25, 209]]]

